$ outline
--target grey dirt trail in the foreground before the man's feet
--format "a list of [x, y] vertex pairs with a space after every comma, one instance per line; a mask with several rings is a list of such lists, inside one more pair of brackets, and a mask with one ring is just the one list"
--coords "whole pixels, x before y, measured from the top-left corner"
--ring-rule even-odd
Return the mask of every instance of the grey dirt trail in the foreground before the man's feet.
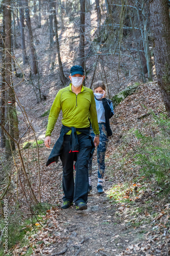
[[[53, 232], [62, 242], [59, 240], [59, 243], [44, 249], [44, 254], [55, 254], [67, 248], [65, 255], [78, 255], [78, 252], [79, 255], [118, 255], [129, 243], [142, 241], [139, 229], [125, 227], [124, 220], [116, 217], [115, 206], [107, 195], [97, 194], [96, 180], [97, 176], [92, 180], [93, 191], [88, 197], [87, 210], [76, 211], [76, 207], [71, 206], [50, 213], [47, 225], [54, 227]], [[105, 184], [105, 190], [109, 185], [109, 182]], [[58, 230], [55, 223], [59, 225]]]

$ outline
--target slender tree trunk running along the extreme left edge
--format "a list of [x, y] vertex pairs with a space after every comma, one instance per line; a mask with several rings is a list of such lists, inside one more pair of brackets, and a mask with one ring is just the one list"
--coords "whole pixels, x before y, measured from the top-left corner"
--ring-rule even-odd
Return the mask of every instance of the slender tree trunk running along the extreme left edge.
[[[3, 8], [4, 12], [4, 8]], [[3, 15], [3, 39], [5, 38], [4, 36], [5, 33], [5, 19]], [[5, 126], [5, 47], [4, 47], [4, 42], [2, 40], [2, 68], [1, 68], [1, 76], [2, 76], [2, 82], [1, 82], [1, 117], [0, 120], [2, 124]], [[6, 137], [4, 134], [4, 130], [1, 128], [1, 147], [5, 147], [6, 144]]]

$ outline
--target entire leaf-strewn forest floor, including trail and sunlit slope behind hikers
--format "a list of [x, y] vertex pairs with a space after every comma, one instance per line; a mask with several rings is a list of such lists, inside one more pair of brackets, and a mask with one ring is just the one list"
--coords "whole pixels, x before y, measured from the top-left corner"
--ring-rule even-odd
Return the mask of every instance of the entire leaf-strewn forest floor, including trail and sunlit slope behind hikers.
[[[92, 20], [92, 25], [95, 23], [96, 26], [94, 8], [91, 13], [86, 15], [88, 15], [86, 22], [90, 23], [90, 20]], [[34, 22], [33, 27], [36, 28], [36, 20], [32, 20]], [[78, 59], [79, 28], [72, 25], [67, 17], [65, 17], [65, 20], [65, 30], [61, 31], [59, 29], [59, 39], [61, 40], [60, 51], [64, 73], [68, 76], [70, 66], [78, 61], [75, 59]], [[87, 25], [89, 26], [86, 27], [88, 30], [91, 28], [91, 24]], [[41, 115], [50, 110], [55, 95], [61, 88], [56, 46], [54, 44], [54, 48], [49, 48], [48, 32], [47, 18], [45, 18], [42, 20], [42, 27], [34, 31], [34, 34], [36, 34], [35, 44], [40, 71], [41, 93], [46, 96], [45, 101], [37, 104], [32, 84], [29, 81], [29, 68], [22, 66], [21, 51], [16, 50], [15, 54], [19, 65], [24, 70], [23, 73], [25, 73], [25, 80], [22, 83], [19, 84], [19, 78], [16, 78], [14, 83], [18, 82], [19, 86], [15, 88], [15, 92], [20, 103], [25, 106], [29, 120], [32, 120], [38, 140], [44, 140], [47, 125], [47, 116], [42, 117]], [[89, 34], [91, 35], [91, 31]], [[91, 37], [89, 38], [92, 40]], [[130, 38], [126, 40], [129, 40], [130, 46], [133, 46], [131, 44], [133, 40]], [[88, 45], [86, 50], [89, 50]], [[137, 76], [139, 74], [136, 64], [131, 60], [129, 53], [126, 51], [122, 51], [122, 53], [125, 56], [122, 58], [124, 62], [119, 77], [117, 77], [119, 58], [115, 57], [113, 61], [110, 57], [105, 62], [103, 57], [106, 64], [106, 76], [108, 79], [110, 78], [111, 95], [140, 79]], [[134, 51], [133, 57], [137, 57], [136, 55], [137, 53]], [[107, 65], [112, 62], [113, 69], [107, 70]], [[86, 86], [89, 86], [91, 81], [93, 64], [94, 58], [87, 59], [86, 65], [89, 73]], [[94, 81], [105, 79], [103, 72], [100, 70], [102, 70], [101, 65], [96, 71]], [[33, 82], [37, 86], [37, 77], [33, 77]], [[17, 110], [19, 134], [22, 135], [25, 133], [27, 126], [21, 111], [19, 108]], [[170, 255], [170, 204], [168, 203], [168, 195], [159, 196], [161, 194], [160, 187], [153, 186], [153, 180], [147, 180], [144, 176], [141, 176], [139, 168], [133, 162], [134, 148], [138, 146], [138, 140], [133, 131], [138, 129], [145, 135], [159, 133], [158, 127], [154, 126], [153, 128], [152, 126], [154, 120], [151, 111], [156, 115], [165, 112], [156, 82], [140, 84], [133, 95], [128, 96], [115, 108], [115, 114], [110, 119], [113, 137], [109, 140], [106, 152], [105, 193], [98, 195], [96, 191], [98, 176], [95, 153], [92, 192], [88, 197], [88, 209], [84, 211], [76, 211], [75, 206], [66, 210], [61, 209], [63, 197], [61, 161], [57, 165], [45, 166], [60, 133], [62, 118], [60, 113], [52, 133], [51, 148], [46, 148], [44, 144], [39, 146], [41, 203], [49, 207], [45, 212], [39, 213], [37, 218], [39, 217], [40, 223], [34, 223], [34, 228], [32, 224], [26, 226], [24, 223], [21, 225], [20, 222], [20, 232], [25, 230], [25, 236], [22, 241], [18, 241], [9, 250], [10, 255]], [[35, 142], [31, 132], [25, 134], [21, 139], [21, 144], [28, 142], [28, 140]], [[128, 157], [128, 153], [131, 154], [131, 157]], [[39, 198], [37, 149], [32, 147], [23, 149], [22, 157], [25, 160], [35, 194]], [[15, 162], [20, 166], [17, 154]], [[3, 167], [0, 166], [0, 168]], [[18, 207], [18, 202], [16, 202], [15, 166], [11, 173], [12, 182], [8, 195], [10, 210], [12, 214], [13, 212], [16, 214], [17, 211], [21, 211], [21, 214], [22, 212], [28, 214], [29, 210], [25, 209], [27, 208], [26, 200], [20, 186], [18, 188], [18, 201], [23, 208], [16, 208], [16, 211], [12, 209], [15, 204]], [[24, 179], [21, 174], [20, 176], [21, 182], [24, 184]]]

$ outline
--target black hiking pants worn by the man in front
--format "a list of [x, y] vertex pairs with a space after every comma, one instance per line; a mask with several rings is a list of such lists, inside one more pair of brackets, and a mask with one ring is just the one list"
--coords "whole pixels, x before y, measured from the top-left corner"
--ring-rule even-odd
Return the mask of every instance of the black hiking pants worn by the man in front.
[[[79, 152], [69, 153], [69, 137], [64, 135], [61, 161], [63, 164], [63, 201], [87, 203], [88, 197], [88, 160], [91, 151], [91, 138], [85, 134], [78, 135]], [[76, 154], [76, 156], [75, 156]], [[76, 180], [74, 184], [74, 159], [76, 157]]]

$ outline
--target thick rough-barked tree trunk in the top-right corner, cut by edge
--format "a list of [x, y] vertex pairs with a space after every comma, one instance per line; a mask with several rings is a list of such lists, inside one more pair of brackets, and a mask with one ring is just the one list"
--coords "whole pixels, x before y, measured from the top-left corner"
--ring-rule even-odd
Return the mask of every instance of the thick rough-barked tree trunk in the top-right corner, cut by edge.
[[170, 116], [170, 18], [167, 0], [153, 0], [150, 11], [158, 85]]

